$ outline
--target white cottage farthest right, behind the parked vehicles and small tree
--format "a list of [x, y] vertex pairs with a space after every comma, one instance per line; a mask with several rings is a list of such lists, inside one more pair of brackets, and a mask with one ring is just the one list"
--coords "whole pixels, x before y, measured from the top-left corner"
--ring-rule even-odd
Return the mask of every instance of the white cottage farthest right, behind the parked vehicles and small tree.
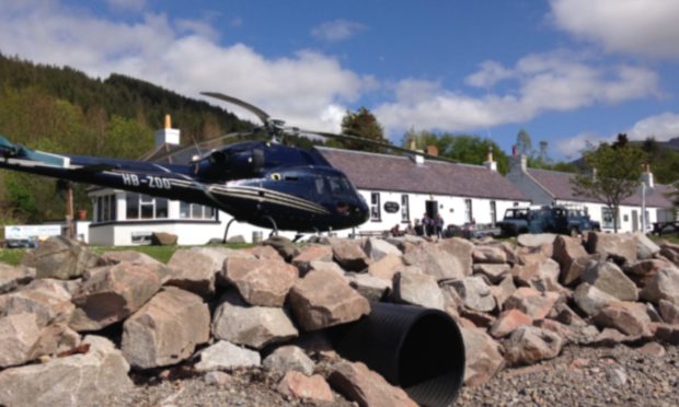
[[[556, 203], [582, 207], [592, 220], [601, 223], [602, 230], [613, 231], [612, 210], [595, 198], [575, 195], [571, 183], [574, 177], [572, 173], [528, 168], [526, 155], [522, 154], [514, 154], [509, 158], [507, 179], [529, 197], [533, 205]], [[669, 185], [654, 183], [649, 168], [646, 168], [643, 174], [642, 184], [640, 190], [624, 199], [620, 206], [619, 232], [636, 232], [642, 229], [649, 231], [653, 222], [675, 220], [672, 202], [667, 197], [674, 188]], [[642, 219], [644, 207], [645, 220]]]

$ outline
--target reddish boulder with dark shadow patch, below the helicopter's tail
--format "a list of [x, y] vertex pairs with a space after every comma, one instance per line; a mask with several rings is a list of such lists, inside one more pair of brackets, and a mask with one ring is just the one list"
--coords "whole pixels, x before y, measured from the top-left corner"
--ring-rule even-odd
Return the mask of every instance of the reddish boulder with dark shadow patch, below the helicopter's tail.
[[73, 295], [70, 326], [99, 330], [127, 318], [160, 290], [158, 274], [145, 265], [119, 263], [91, 270]]

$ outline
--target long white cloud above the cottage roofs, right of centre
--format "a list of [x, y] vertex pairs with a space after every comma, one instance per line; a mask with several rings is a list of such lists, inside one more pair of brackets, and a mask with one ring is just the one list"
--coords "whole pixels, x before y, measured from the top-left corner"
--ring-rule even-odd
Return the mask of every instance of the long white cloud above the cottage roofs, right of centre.
[[628, 65], [599, 67], [586, 56], [556, 51], [529, 55], [514, 67], [483, 62], [468, 83], [490, 88], [503, 82], [508, 91], [472, 96], [439, 83], [405, 80], [396, 100], [376, 108], [390, 129], [473, 130], [522, 123], [545, 112], [566, 112], [595, 104], [614, 104], [659, 95], [655, 72]]

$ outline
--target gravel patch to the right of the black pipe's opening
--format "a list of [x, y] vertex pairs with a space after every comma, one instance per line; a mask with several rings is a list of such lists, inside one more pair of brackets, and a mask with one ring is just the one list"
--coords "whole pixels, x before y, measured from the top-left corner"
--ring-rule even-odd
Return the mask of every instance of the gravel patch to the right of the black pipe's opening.
[[457, 405], [679, 406], [679, 348], [647, 349], [566, 347], [556, 359], [463, 387]]

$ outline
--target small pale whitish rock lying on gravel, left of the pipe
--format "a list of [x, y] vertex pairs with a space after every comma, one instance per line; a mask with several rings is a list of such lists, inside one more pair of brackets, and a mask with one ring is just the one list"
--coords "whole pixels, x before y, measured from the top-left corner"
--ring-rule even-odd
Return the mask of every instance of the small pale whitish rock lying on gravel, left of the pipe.
[[262, 364], [260, 352], [220, 340], [200, 351], [200, 361], [195, 369], [198, 372], [214, 370], [233, 370], [238, 368], [255, 368]]

